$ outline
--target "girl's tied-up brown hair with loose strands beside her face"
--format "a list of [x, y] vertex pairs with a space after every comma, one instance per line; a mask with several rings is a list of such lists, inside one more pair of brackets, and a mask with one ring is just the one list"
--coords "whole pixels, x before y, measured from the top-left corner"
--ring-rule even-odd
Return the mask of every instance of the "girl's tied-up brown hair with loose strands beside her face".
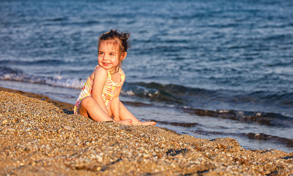
[[[111, 43], [111, 44], [113, 44], [113, 46], [116, 44], [119, 46], [118, 47], [119, 62], [117, 65], [118, 68], [120, 68], [122, 65], [122, 61], [123, 61], [123, 60], [121, 60], [122, 54], [124, 54], [124, 52], [126, 52], [127, 49], [130, 48], [129, 40], [128, 40], [129, 36], [130, 36], [130, 33], [123, 33], [123, 32], [119, 33], [119, 32], [117, 32], [117, 29], [115, 29], [115, 31], [113, 31], [111, 29], [109, 32], [103, 33], [99, 36], [98, 47], [100, 46], [100, 43], [104, 42], [104, 41], [106, 41], [106, 44]], [[116, 68], [115, 68], [115, 70], [116, 70]]]

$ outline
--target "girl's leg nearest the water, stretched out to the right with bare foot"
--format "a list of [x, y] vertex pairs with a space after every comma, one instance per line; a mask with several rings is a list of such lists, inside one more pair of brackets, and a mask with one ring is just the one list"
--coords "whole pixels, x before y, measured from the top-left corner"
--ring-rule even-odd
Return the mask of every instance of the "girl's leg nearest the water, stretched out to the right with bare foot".
[[123, 105], [123, 103], [119, 103], [119, 114], [120, 114], [120, 119], [125, 120], [125, 119], [132, 119], [132, 125], [156, 125], [156, 122], [141, 122], [139, 119], [134, 117], [134, 115]]

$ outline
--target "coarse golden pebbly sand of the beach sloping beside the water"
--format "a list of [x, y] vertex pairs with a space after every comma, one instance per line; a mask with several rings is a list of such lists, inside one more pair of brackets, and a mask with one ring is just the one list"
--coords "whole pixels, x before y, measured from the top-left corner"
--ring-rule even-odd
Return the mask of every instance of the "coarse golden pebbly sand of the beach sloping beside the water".
[[0, 175], [293, 175], [293, 152], [95, 122], [38, 96], [0, 97]]

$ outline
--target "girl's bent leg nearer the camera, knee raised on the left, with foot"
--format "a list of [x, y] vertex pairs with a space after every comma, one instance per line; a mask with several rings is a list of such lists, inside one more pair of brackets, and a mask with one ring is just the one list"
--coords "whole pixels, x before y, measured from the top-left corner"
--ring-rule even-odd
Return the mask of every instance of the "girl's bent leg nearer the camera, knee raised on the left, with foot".
[[[78, 108], [78, 113], [80, 115], [89, 117], [93, 119], [94, 121], [98, 121], [98, 122], [113, 121], [113, 119], [109, 117], [109, 115], [98, 105], [96, 100], [91, 96], [84, 97], [81, 100], [79, 104], [79, 108]], [[114, 122], [122, 123], [125, 125], [131, 125], [132, 120], [124, 119], [121, 121], [114, 121]]]

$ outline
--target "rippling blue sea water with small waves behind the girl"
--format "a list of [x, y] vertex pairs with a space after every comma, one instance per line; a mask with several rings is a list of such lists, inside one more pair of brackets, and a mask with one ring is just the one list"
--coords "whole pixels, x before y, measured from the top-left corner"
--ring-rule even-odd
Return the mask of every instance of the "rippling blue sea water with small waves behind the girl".
[[74, 104], [98, 64], [98, 36], [130, 31], [121, 100], [138, 118], [292, 152], [292, 9], [285, 0], [1, 1], [0, 86]]

